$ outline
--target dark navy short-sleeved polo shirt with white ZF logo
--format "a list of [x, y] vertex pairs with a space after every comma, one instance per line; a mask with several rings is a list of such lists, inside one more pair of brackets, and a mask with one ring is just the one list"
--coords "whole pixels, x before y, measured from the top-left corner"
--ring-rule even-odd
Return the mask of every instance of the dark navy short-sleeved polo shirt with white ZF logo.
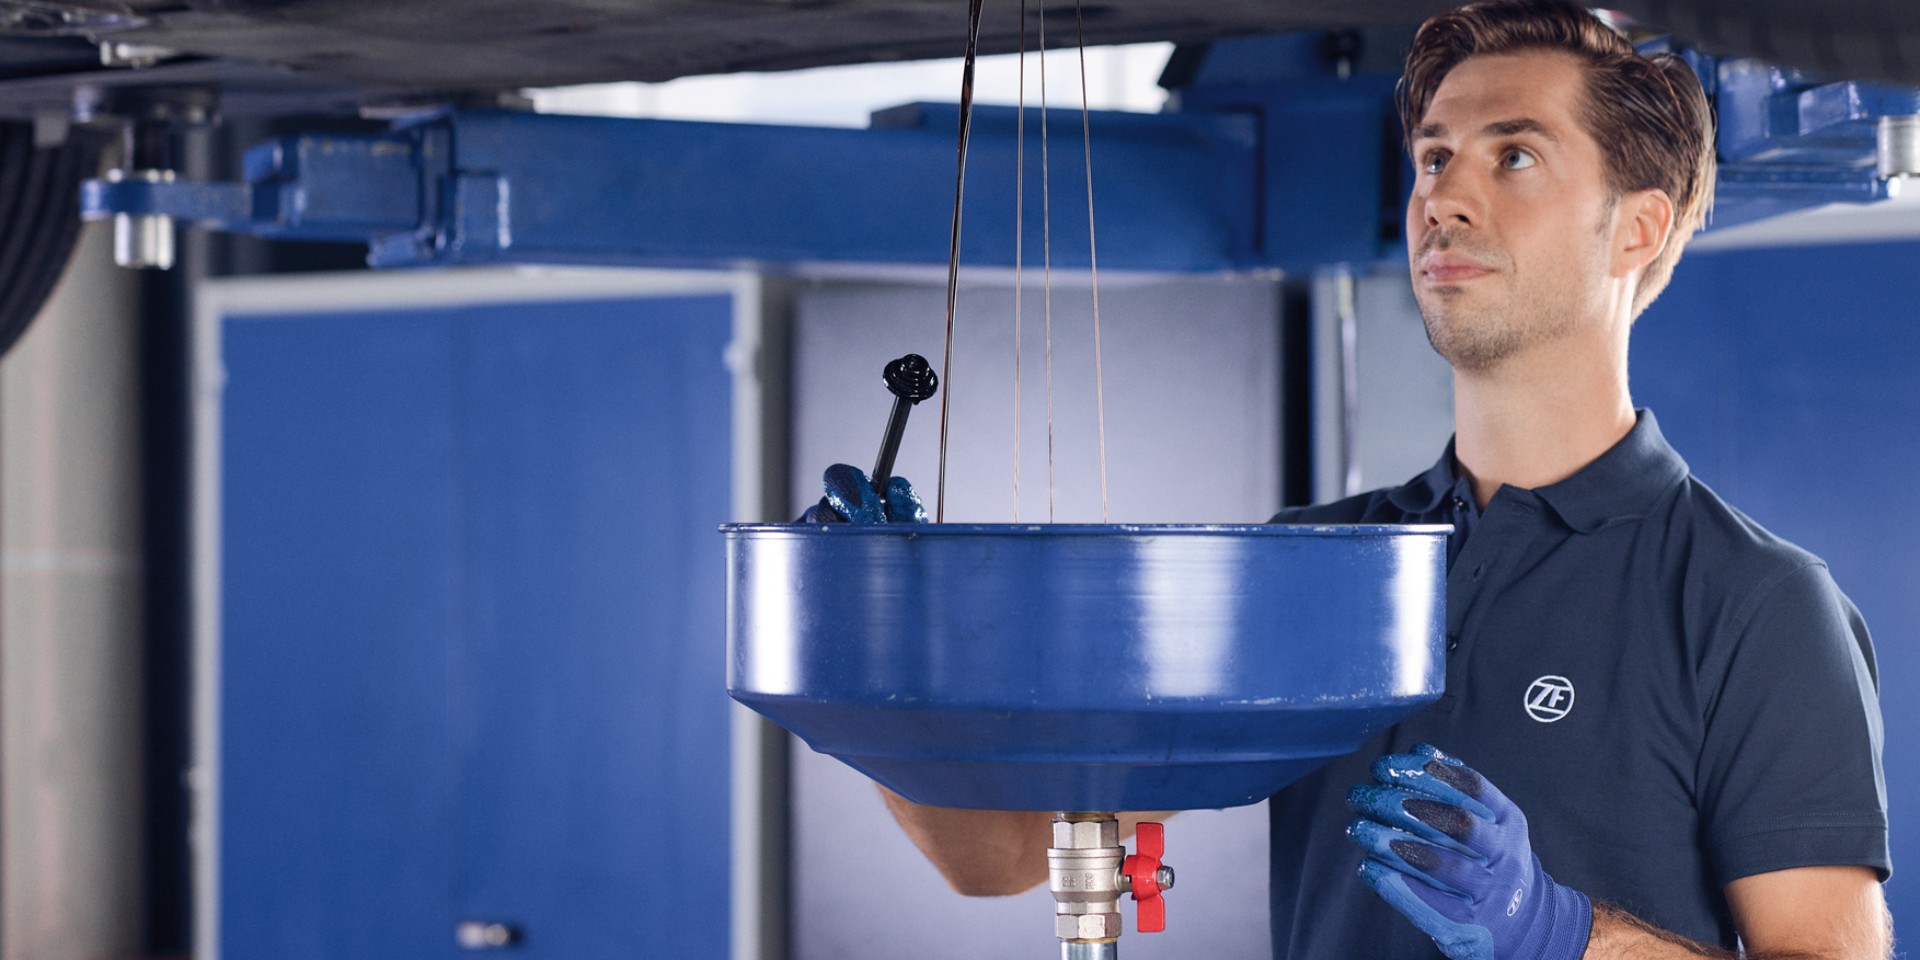
[[1574, 476], [1476, 511], [1453, 449], [1275, 522], [1455, 524], [1446, 695], [1271, 799], [1277, 958], [1434, 958], [1359, 881], [1346, 793], [1428, 741], [1526, 814], [1553, 879], [1734, 947], [1722, 885], [1889, 872], [1874, 649], [1818, 557], [1728, 507], [1653, 413]]

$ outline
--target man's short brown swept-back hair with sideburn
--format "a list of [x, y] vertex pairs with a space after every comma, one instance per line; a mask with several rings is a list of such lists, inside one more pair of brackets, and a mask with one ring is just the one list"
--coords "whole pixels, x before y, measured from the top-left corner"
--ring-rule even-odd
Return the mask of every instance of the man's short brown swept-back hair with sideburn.
[[1640, 276], [1634, 315], [1667, 288], [1680, 250], [1713, 205], [1713, 111], [1699, 77], [1672, 54], [1640, 56], [1634, 44], [1586, 10], [1559, 0], [1492, 0], [1440, 13], [1421, 25], [1400, 77], [1400, 123], [1411, 148], [1440, 81], [1473, 56], [1557, 50], [1586, 75], [1582, 117], [1599, 142], [1613, 198], [1665, 190], [1674, 204], [1667, 248]]

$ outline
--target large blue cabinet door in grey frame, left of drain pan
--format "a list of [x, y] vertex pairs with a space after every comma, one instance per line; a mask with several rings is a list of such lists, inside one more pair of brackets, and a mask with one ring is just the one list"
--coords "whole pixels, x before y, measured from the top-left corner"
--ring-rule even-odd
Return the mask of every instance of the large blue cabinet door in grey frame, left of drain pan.
[[732, 313], [225, 319], [221, 956], [726, 956]]

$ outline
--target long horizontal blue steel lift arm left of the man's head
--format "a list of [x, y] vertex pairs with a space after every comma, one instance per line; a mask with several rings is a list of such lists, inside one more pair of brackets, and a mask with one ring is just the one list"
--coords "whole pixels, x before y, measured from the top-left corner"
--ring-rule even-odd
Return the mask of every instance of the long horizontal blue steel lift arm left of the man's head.
[[[88, 217], [159, 215], [221, 230], [363, 240], [413, 263], [945, 263], [958, 108], [881, 111], [870, 129], [513, 111], [445, 113], [380, 136], [298, 134], [248, 152], [244, 184], [123, 179]], [[1027, 248], [1041, 250], [1037, 111]], [[1079, 111], [1052, 111], [1056, 267], [1087, 267]], [[1094, 113], [1102, 265], [1258, 263], [1256, 125], [1238, 115]], [[1069, 150], [1071, 148], [1071, 150]], [[979, 108], [962, 261], [1012, 265], [1016, 117]], [[1152, 225], [1150, 230], [1139, 228]]]

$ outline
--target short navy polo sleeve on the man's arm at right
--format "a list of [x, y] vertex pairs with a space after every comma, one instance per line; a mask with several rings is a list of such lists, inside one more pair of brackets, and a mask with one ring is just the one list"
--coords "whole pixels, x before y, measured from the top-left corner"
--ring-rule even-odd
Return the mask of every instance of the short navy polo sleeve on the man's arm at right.
[[1880, 684], [1859, 611], [1807, 561], [1728, 616], [1734, 641], [1703, 664], [1713, 693], [1695, 780], [1720, 883], [1797, 866], [1885, 879]]

